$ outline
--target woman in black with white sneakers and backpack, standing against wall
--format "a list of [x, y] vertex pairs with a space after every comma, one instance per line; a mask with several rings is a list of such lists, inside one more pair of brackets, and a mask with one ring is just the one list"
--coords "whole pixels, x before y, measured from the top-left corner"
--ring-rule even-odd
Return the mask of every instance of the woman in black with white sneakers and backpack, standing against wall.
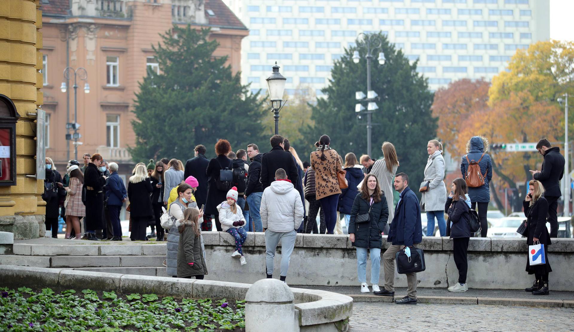
[[468, 241], [471, 237], [469, 213], [471, 202], [467, 193], [466, 181], [463, 178], [456, 178], [452, 181], [451, 194], [449, 194], [444, 206], [444, 212], [448, 213], [447, 236], [451, 236], [452, 255], [456, 268], [459, 270], [459, 282], [448, 287], [449, 292], [468, 291], [466, 276], [468, 272]]

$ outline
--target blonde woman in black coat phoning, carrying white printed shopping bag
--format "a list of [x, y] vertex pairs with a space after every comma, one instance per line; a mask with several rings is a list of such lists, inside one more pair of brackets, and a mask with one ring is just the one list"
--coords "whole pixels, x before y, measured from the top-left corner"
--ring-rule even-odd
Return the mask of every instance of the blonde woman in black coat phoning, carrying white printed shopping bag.
[[548, 228], [546, 228], [548, 201], [546, 201], [546, 198], [542, 197], [544, 186], [542, 186], [540, 181], [532, 180], [528, 185], [530, 190], [522, 202], [526, 222], [528, 222], [528, 226], [526, 226], [526, 231], [528, 231], [526, 244], [544, 244], [546, 263], [530, 266], [530, 260], [528, 259], [528, 256], [526, 256], [526, 272], [528, 272], [528, 274], [534, 274], [534, 276], [536, 276], [536, 280], [534, 280], [532, 287], [525, 288], [525, 291], [532, 292], [532, 295], [548, 295], [550, 294], [548, 288], [548, 274], [552, 272], [552, 268], [548, 262], [548, 246], [552, 243], [550, 242]]

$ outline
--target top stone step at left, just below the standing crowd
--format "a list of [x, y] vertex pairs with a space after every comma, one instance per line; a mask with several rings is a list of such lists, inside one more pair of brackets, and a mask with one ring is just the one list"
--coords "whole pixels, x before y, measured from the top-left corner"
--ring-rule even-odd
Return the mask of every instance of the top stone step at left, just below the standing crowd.
[[14, 255], [26, 256], [157, 256], [165, 255], [166, 244], [27, 244], [14, 243]]

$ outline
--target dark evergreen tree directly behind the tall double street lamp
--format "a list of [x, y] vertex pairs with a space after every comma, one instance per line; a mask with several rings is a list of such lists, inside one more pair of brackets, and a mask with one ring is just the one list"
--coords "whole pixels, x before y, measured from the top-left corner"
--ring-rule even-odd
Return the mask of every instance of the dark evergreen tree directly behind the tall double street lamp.
[[[371, 61], [371, 89], [378, 94], [379, 107], [373, 114], [371, 158], [383, 157], [383, 142], [393, 143], [400, 162], [398, 172], [409, 175], [409, 185], [418, 194], [428, 158], [426, 143], [436, 138], [436, 119], [430, 111], [433, 93], [426, 79], [417, 73], [417, 62], [409, 64], [408, 58], [401, 50], [395, 50], [385, 36], [379, 33], [379, 38], [382, 46], [375, 52], [383, 52], [386, 62], [379, 65], [377, 54]], [[343, 158], [349, 152], [357, 158], [367, 153], [366, 115], [358, 119], [355, 113], [358, 103], [355, 91], [367, 92], [366, 48], [361, 41], [358, 45], [361, 47], [346, 50], [340, 60], [335, 61], [329, 85], [321, 90], [327, 97], [317, 98], [316, 105], [312, 105], [315, 124], [301, 128], [306, 142], [316, 142], [321, 135], [329, 135], [331, 146]], [[352, 61], [355, 50], [360, 54], [358, 64]], [[308, 146], [305, 150], [304, 160], [315, 147]]]

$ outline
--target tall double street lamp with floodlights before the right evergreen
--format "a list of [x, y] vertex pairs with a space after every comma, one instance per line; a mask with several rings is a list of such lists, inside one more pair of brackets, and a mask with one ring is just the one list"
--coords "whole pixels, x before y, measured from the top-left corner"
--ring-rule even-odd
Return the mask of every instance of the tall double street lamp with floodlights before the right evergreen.
[[[359, 37], [361, 35], [363, 36], [364, 45], [360, 45], [360, 43], [358, 42]], [[373, 131], [373, 123], [371, 123], [372, 121], [371, 115], [375, 110], [379, 108], [377, 106], [377, 103], [375, 103], [375, 100], [377, 100], [378, 95], [375, 91], [371, 90], [371, 60], [375, 58], [373, 55], [375, 50], [381, 48], [381, 46], [382, 46], [382, 40], [378, 34], [368, 35], [364, 33], [359, 33], [359, 36], [357, 37], [357, 48], [363, 48], [366, 49], [367, 51], [367, 95], [365, 96], [362, 91], [355, 92], [355, 99], [359, 101], [359, 103], [355, 105], [355, 112], [357, 113], [364, 112], [365, 108], [360, 102], [368, 103], [367, 111], [364, 113], [367, 114], [367, 154], [370, 155], [371, 157], [372, 157], [371, 135]], [[354, 63], [356, 64], [359, 63], [360, 56], [358, 50], [355, 50], [355, 52], [353, 52], [352, 59]], [[379, 61], [379, 64], [381, 65], [385, 64], [385, 54], [383, 54], [383, 52], [379, 52], [379, 57], [377, 60]]]

